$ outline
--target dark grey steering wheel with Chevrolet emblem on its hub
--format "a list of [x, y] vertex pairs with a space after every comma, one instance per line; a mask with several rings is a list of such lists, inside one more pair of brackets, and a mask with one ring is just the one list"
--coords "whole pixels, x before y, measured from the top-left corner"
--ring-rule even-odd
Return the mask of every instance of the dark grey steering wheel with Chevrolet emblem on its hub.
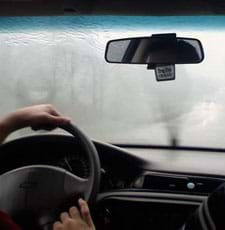
[[90, 167], [87, 179], [48, 165], [29, 165], [0, 176], [0, 210], [11, 216], [32, 214], [40, 229], [51, 229], [56, 210], [74, 195], [93, 203], [100, 183], [100, 161], [92, 141], [72, 124], [59, 128], [72, 134], [84, 149]]

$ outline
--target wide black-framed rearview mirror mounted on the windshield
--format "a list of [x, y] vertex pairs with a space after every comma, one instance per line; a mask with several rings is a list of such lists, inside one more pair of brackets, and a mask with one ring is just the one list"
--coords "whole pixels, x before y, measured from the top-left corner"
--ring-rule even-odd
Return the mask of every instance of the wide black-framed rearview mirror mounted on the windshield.
[[152, 36], [111, 40], [105, 59], [126, 64], [192, 64], [204, 59], [201, 42], [193, 38]]

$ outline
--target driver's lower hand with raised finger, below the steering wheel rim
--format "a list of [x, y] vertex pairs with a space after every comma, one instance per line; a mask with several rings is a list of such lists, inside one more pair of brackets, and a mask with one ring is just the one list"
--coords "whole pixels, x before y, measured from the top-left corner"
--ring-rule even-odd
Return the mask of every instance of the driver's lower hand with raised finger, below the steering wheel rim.
[[53, 230], [95, 230], [86, 201], [79, 199], [78, 204], [80, 211], [76, 207], [71, 207], [68, 213], [61, 213], [61, 221], [54, 223]]

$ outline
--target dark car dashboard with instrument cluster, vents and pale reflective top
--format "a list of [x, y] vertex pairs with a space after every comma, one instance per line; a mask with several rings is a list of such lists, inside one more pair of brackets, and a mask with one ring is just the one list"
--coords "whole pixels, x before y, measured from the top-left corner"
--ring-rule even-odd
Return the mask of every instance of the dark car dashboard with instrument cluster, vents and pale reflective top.
[[[72, 136], [40, 135], [13, 142], [0, 147], [1, 174], [37, 164], [58, 166], [82, 178], [90, 175], [85, 151]], [[224, 169], [218, 167], [225, 162], [222, 152], [94, 144], [101, 162], [93, 207], [98, 229], [179, 229], [225, 182]]]

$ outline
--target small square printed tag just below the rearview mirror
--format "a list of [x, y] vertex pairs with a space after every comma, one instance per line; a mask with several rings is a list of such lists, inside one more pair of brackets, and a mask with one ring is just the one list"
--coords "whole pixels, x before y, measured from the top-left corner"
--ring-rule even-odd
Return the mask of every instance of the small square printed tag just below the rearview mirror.
[[155, 75], [157, 81], [175, 80], [175, 65], [157, 65]]

